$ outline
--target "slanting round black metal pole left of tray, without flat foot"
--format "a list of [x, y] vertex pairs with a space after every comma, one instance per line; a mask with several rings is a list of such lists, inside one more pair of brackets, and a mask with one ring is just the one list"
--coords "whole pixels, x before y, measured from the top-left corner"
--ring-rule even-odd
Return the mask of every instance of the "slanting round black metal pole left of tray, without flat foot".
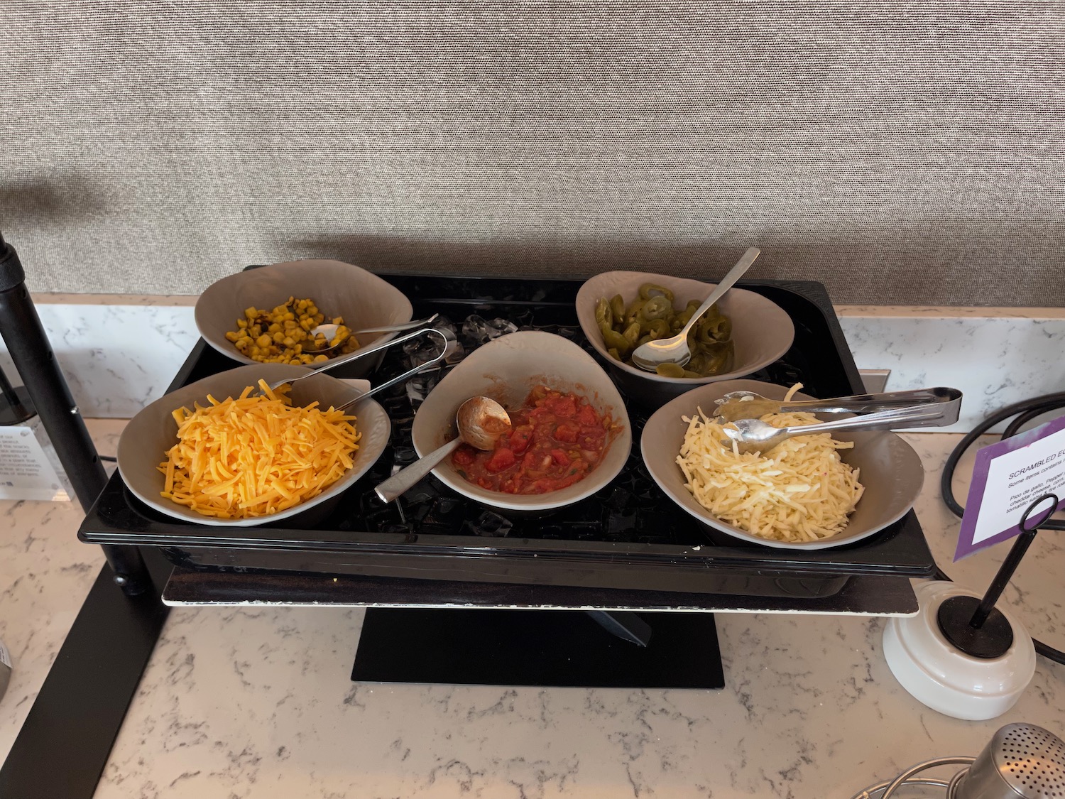
[[[40, 316], [26, 288], [15, 248], [0, 235], [0, 337], [26, 385], [82, 508], [88, 509], [108, 482], [96, 446], [70, 395]], [[136, 547], [101, 545], [114, 580], [130, 596], [151, 587]]]

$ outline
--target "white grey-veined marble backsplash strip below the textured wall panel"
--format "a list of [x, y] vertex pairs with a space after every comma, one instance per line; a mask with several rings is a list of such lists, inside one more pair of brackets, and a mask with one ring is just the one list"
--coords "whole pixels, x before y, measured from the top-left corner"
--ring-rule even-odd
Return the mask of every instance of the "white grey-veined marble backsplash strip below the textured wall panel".
[[[37, 312], [85, 417], [129, 418], [162, 396], [196, 343], [195, 297], [46, 294]], [[951, 386], [968, 431], [1001, 408], [1065, 390], [1065, 309], [838, 306], [862, 370], [886, 390]], [[13, 375], [0, 348], [0, 366]]]

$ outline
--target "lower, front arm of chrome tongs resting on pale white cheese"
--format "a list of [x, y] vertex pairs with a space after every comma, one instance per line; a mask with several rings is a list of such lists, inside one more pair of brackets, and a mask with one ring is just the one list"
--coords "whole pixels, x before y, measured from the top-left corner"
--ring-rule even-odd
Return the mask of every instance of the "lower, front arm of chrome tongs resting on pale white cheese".
[[879, 413], [834, 419], [821, 424], [794, 425], [791, 427], [773, 427], [760, 419], [736, 419], [723, 427], [730, 441], [722, 445], [736, 444], [740, 453], [768, 453], [777, 444], [783, 444], [796, 436], [815, 436], [819, 433], [836, 430], [894, 430], [899, 427], [945, 427], [957, 421], [962, 409], [957, 403], [934, 403], [911, 405], [906, 408], [882, 410]]

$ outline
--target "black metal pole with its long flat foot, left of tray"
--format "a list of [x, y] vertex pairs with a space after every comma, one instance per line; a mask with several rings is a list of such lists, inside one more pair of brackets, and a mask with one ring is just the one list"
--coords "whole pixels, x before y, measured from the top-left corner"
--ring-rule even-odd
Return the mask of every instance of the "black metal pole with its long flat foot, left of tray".
[[[0, 336], [87, 512], [108, 475], [55, 362], [18, 256], [2, 238]], [[148, 553], [149, 570], [136, 547], [101, 549], [108, 566], [0, 768], [0, 797], [91, 799], [166, 620], [169, 608], [160, 597], [170, 567], [162, 555]]]

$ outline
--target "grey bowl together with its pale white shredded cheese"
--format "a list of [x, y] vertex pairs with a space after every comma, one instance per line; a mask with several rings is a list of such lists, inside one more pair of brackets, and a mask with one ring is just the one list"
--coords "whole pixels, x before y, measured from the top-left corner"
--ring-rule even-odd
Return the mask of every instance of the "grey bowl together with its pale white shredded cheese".
[[[643, 461], [658, 487], [695, 518], [715, 543], [828, 549], [861, 541], [908, 511], [924, 478], [920, 458], [890, 431], [798, 436], [766, 453], [736, 450], [715, 418], [730, 391], [771, 399], [813, 397], [798, 387], [727, 380], [689, 391], [643, 428]], [[777, 427], [838, 414], [767, 413]]]

